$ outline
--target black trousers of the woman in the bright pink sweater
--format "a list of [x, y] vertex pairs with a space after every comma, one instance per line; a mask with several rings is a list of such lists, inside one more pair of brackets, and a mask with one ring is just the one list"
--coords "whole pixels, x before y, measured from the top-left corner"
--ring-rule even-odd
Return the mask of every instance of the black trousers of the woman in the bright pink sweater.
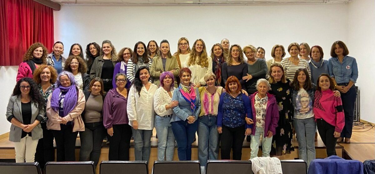
[[330, 125], [324, 119], [317, 119], [317, 126], [319, 135], [322, 138], [324, 145], [327, 147], [327, 156], [336, 155], [336, 140], [333, 133], [335, 133], [335, 126]]

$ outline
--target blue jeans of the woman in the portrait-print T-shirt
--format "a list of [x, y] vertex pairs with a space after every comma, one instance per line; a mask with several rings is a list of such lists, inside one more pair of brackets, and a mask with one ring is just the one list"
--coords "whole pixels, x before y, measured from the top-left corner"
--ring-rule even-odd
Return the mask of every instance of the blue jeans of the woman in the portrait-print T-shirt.
[[[307, 162], [307, 166], [310, 166], [310, 162], [315, 159], [315, 123], [314, 116], [306, 119], [294, 118], [294, 128], [296, 129], [297, 140], [298, 140], [298, 153], [299, 158]], [[306, 135], [306, 136], [305, 136]]]

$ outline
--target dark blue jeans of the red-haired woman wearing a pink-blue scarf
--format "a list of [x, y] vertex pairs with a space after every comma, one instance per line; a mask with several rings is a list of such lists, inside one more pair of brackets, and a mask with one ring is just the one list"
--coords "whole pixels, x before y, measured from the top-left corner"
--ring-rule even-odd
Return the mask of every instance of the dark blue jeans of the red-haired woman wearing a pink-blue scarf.
[[191, 160], [191, 143], [194, 142], [195, 132], [198, 129], [198, 120], [193, 124], [187, 121], [174, 121], [172, 131], [177, 142], [177, 154], [180, 161]]

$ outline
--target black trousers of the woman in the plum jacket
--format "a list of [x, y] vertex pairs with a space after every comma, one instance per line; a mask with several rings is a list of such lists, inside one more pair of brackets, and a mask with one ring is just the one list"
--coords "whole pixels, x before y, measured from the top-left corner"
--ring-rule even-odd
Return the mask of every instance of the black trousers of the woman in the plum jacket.
[[110, 139], [110, 150], [108, 160], [129, 161], [130, 138], [132, 137], [132, 127], [129, 124], [118, 124], [113, 126], [113, 136]]

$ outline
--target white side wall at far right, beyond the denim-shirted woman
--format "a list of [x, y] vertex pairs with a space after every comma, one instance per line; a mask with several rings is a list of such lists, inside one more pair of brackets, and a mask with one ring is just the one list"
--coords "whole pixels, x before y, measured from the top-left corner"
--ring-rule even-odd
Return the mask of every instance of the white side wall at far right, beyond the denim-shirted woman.
[[375, 1], [354, 0], [349, 3], [348, 49], [356, 58], [359, 77], [356, 86], [360, 89], [361, 119], [375, 123]]

